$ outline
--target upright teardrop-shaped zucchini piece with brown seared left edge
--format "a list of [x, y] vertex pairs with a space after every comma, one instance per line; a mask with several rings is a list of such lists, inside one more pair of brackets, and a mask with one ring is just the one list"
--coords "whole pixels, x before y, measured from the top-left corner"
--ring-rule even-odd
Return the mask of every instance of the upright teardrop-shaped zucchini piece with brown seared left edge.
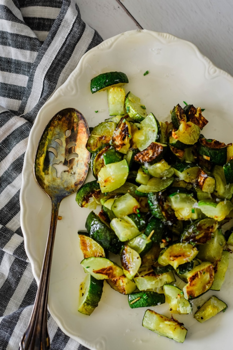
[[141, 266], [140, 255], [130, 246], [124, 245], [121, 250], [121, 265], [125, 276], [132, 280]]

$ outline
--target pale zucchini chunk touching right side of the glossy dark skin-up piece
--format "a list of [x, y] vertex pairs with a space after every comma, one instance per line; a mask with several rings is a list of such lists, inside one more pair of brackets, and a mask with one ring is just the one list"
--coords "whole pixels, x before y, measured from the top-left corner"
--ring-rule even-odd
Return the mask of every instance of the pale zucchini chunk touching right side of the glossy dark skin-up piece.
[[113, 218], [110, 222], [112, 230], [122, 242], [130, 240], [140, 234], [137, 226], [132, 223], [132, 220], [131, 222], [128, 222], [125, 219], [127, 219], [127, 216], [122, 218]]

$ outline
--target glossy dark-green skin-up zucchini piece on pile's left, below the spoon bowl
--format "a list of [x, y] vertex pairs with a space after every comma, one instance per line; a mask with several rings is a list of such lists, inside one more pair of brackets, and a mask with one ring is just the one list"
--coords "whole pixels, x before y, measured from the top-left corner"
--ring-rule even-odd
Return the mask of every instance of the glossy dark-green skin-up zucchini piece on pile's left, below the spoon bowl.
[[91, 211], [87, 217], [85, 225], [91, 238], [96, 240], [104, 249], [114, 254], [118, 254], [122, 247], [122, 242], [115, 232], [105, 225], [98, 215]]

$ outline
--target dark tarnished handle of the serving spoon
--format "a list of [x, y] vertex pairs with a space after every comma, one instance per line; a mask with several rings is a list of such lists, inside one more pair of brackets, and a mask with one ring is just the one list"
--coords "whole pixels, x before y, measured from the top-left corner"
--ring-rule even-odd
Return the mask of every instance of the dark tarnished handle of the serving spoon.
[[57, 227], [59, 205], [60, 202], [57, 203], [52, 201], [50, 228], [45, 248], [39, 286], [28, 328], [23, 334], [20, 342], [21, 350], [50, 349], [50, 339], [47, 328], [47, 304], [49, 291], [49, 277], [52, 262], [53, 244]]

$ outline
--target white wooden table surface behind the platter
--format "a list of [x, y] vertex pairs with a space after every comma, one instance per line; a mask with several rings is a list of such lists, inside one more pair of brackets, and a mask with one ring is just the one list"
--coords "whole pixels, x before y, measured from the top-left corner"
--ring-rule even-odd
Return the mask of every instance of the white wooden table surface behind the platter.
[[77, 0], [82, 19], [103, 39], [150, 29], [191, 41], [233, 75], [232, 0]]

